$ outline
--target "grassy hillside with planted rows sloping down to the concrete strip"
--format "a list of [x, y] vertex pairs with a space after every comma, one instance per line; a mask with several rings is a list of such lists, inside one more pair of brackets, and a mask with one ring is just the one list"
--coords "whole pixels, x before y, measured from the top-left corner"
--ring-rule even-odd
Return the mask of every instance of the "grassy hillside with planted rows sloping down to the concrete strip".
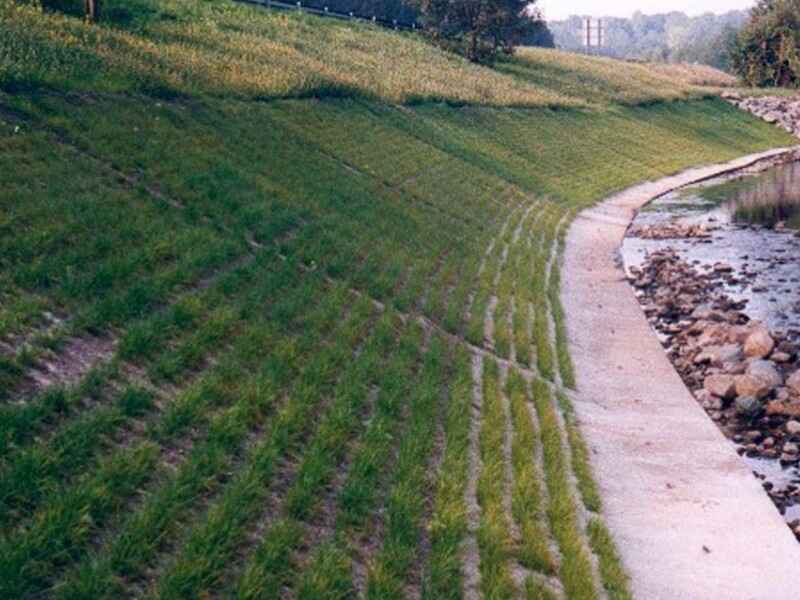
[[629, 597], [560, 242], [790, 138], [687, 71], [106, 10], [0, 0], [0, 597]]

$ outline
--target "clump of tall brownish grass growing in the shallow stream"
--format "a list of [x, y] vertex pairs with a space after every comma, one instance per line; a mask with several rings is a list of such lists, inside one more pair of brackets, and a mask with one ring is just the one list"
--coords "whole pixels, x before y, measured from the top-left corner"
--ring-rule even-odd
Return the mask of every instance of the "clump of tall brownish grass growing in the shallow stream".
[[722, 196], [723, 208], [736, 223], [766, 227], [783, 223], [800, 229], [800, 162], [780, 165], [716, 190], [709, 188], [707, 193]]

